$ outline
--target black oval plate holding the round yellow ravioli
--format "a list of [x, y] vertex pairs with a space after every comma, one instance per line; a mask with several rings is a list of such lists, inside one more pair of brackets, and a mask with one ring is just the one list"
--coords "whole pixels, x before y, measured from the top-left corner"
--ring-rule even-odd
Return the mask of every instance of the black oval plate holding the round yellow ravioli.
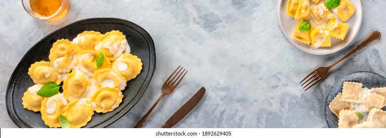
[[21, 128], [47, 128], [41, 113], [27, 110], [22, 105], [22, 97], [27, 88], [34, 85], [28, 75], [28, 68], [37, 61], [49, 61], [48, 55], [52, 44], [57, 39], [72, 40], [84, 31], [99, 31], [104, 34], [112, 30], [119, 30], [126, 35], [131, 54], [142, 60], [141, 73], [128, 81], [123, 91], [123, 101], [118, 108], [105, 114], [94, 113], [85, 128], [103, 128], [126, 114], [141, 98], [153, 76], [156, 64], [154, 42], [151, 36], [140, 26], [122, 19], [93, 18], [72, 23], [47, 36], [36, 43], [22, 58], [9, 79], [6, 92], [6, 107], [9, 117]]

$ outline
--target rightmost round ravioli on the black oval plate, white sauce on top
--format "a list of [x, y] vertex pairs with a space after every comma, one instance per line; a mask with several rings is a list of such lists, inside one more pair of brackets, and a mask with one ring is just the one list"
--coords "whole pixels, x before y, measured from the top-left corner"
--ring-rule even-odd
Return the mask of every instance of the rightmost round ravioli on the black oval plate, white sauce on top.
[[142, 69], [141, 59], [131, 54], [122, 54], [114, 61], [113, 69], [120, 72], [127, 81], [135, 78]]

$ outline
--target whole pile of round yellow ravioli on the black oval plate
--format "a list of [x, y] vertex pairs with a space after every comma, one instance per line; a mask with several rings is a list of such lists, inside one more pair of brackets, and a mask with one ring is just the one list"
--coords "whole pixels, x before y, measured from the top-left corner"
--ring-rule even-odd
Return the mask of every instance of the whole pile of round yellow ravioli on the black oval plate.
[[[100, 52], [104, 58], [97, 67]], [[126, 36], [119, 31], [85, 31], [72, 41], [57, 40], [50, 49], [49, 61], [36, 62], [29, 68], [35, 85], [24, 93], [24, 108], [40, 111], [51, 128], [60, 127], [60, 114], [71, 128], [86, 126], [94, 111], [106, 113], [117, 108], [127, 81], [140, 73], [141, 60], [129, 53]], [[37, 92], [48, 82], [63, 82], [63, 93], [39, 96]]]

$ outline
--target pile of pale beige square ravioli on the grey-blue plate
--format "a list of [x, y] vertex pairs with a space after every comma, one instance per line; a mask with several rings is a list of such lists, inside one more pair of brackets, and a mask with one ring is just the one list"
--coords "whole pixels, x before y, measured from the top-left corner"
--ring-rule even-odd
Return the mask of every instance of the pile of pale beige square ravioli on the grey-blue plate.
[[343, 82], [342, 93], [329, 104], [339, 118], [339, 128], [386, 128], [386, 111], [381, 109], [386, 106], [386, 87], [362, 86], [357, 82]]

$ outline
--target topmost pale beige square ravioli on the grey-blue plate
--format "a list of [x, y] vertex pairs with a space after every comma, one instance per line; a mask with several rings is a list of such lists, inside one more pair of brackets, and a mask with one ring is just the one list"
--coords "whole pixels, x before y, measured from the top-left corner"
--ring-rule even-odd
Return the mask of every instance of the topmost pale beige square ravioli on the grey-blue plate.
[[342, 100], [347, 102], [362, 102], [362, 83], [357, 82], [343, 82]]

